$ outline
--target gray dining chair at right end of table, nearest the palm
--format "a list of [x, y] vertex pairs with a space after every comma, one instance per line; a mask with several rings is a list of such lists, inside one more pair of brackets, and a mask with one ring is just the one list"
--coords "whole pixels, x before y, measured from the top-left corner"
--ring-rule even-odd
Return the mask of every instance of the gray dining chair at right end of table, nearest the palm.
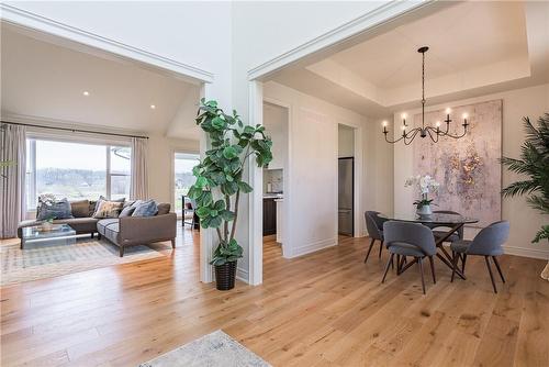
[[492, 280], [492, 287], [494, 292], [497, 293], [497, 288], [495, 287], [494, 275], [492, 274], [492, 267], [490, 266], [490, 257], [492, 257], [497, 273], [502, 281], [505, 282], [505, 278], [497, 263], [496, 256], [503, 255], [502, 245], [509, 237], [509, 222], [500, 221], [490, 224], [485, 229], [482, 229], [479, 234], [474, 236], [472, 241], [461, 240], [456, 241], [450, 245], [453, 256], [453, 271], [451, 273], [451, 281], [453, 281], [453, 276], [456, 275], [456, 268], [458, 266], [458, 255], [479, 255], [484, 256], [484, 262], [486, 263], [488, 273], [490, 274], [490, 280]]

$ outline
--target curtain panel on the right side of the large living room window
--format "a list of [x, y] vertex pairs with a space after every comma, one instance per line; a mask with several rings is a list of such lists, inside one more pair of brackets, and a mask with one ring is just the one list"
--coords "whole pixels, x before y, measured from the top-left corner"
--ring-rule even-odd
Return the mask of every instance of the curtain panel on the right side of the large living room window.
[[147, 140], [132, 137], [132, 177], [130, 184], [130, 199], [148, 199], [147, 182]]

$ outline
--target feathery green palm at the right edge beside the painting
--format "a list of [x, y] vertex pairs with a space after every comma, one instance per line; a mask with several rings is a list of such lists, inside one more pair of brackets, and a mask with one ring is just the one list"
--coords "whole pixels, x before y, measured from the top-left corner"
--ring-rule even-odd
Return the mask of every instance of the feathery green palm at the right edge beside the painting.
[[[524, 118], [523, 121], [526, 140], [520, 148], [520, 158], [503, 157], [501, 162], [512, 173], [526, 175], [528, 179], [508, 185], [502, 193], [507, 198], [525, 194], [531, 208], [549, 214], [549, 113], [538, 119], [537, 126], [529, 118]], [[531, 243], [547, 238], [549, 225], [544, 225]], [[549, 277], [549, 263], [542, 274], [546, 279]]]

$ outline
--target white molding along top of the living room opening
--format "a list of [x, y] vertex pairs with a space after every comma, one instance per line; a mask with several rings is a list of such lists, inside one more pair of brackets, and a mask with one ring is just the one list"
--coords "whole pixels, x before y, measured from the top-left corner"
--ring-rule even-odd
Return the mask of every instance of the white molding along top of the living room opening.
[[153, 65], [178, 74], [184, 78], [189, 78], [194, 82], [213, 82], [214, 80], [214, 75], [210, 71], [64, 24], [53, 19], [19, 9], [12, 4], [0, 3], [0, 19], [14, 25], [56, 35], [87, 46], [107, 51], [124, 58]]

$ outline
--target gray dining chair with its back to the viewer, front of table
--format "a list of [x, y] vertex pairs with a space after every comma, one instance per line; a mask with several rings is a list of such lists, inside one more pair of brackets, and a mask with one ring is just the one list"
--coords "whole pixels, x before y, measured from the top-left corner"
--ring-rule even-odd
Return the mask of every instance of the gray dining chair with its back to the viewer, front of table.
[[[430, 263], [430, 271], [433, 274], [433, 282], [436, 283], [435, 264], [433, 256], [437, 253], [435, 237], [428, 226], [419, 223], [408, 223], [399, 221], [388, 221], [383, 223], [383, 235], [385, 238], [386, 248], [391, 254], [389, 262], [385, 266], [385, 273], [381, 282], [385, 281], [389, 266], [394, 260], [394, 255], [397, 255], [396, 271], [402, 274], [414, 263], [417, 263], [419, 273], [422, 275], [422, 289], [425, 294], [425, 279], [423, 276], [423, 259], [427, 257]], [[413, 262], [406, 264], [403, 268], [404, 258], [406, 256], [414, 257]], [[402, 257], [402, 262], [401, 258]]]

